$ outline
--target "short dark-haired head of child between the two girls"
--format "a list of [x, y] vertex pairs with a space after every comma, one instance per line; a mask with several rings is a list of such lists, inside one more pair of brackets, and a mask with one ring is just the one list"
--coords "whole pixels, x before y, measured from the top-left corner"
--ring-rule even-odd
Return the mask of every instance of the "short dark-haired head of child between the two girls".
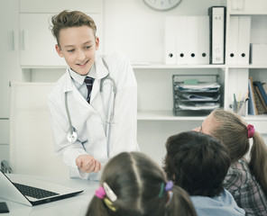
[[186, 131], [167, 139], [166, 148], [164, 169], [175, 184], [190, 195], [214, 197], [223, 191], [230, 157], [217, 139]]

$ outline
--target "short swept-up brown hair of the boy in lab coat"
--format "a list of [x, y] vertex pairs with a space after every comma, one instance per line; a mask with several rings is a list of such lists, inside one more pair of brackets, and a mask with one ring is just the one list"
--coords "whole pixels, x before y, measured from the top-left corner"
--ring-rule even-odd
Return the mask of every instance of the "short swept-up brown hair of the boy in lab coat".
[[88, 26], [94, 31], [96, 36], [97, 26], [94, 20], [79, 11], [62, 11], [60, 14], [54, 15], [51, 18], [51, 31], [54, 37], [56, 38], [58, 45], [60, 46], [60, 30], [70, 28], [70, 27], [79, 27], [79, 26]]

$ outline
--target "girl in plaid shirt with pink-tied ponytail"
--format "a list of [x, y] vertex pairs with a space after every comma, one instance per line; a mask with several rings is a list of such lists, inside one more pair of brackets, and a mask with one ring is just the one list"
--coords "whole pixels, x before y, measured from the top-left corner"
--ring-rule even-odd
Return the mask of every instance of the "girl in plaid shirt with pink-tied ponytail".
[[231, 166], [224, 186], [246, 215], [267, 215], [267, 148], [262, 136], [234, 112], [217, 109], [195, 129], [219, 139]]

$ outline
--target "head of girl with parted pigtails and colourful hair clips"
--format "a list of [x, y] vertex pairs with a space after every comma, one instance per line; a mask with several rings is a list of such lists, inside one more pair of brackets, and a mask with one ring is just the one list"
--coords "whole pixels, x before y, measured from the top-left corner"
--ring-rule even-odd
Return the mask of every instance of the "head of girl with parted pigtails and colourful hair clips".
[[[115, 193], [114, 200], [106, 185]], [[110, 159], [96, 193], [87, 215], [196, 215], [189, 194], [167, 183], [161, 167], [141, 152]]]

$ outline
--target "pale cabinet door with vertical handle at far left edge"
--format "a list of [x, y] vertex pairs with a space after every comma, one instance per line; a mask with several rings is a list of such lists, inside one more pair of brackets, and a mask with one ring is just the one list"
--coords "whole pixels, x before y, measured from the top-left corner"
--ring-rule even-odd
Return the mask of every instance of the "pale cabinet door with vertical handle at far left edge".
[[19, 81], [19, 1], [0, 1], [0, 119], [9, 117], [9, 82]]

